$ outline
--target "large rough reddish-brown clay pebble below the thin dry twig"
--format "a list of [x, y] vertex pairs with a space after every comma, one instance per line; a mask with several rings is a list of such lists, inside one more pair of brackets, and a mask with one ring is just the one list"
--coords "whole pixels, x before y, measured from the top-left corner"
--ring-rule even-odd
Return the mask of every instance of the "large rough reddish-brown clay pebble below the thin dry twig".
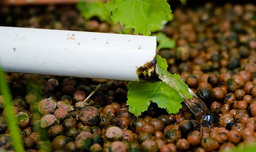
[[86, 107], [80, 112], [84, 125], [95, 125], [99, 120], [99, 112], [95, 107]]

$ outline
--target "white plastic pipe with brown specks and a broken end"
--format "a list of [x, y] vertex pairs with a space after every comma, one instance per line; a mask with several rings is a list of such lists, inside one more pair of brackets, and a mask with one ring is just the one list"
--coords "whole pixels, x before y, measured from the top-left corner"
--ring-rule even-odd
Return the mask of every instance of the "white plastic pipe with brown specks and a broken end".
[[0, 65], [5, 72], [136, 81], [156, 45], [156, 37], [140, 35], [0, 27]]

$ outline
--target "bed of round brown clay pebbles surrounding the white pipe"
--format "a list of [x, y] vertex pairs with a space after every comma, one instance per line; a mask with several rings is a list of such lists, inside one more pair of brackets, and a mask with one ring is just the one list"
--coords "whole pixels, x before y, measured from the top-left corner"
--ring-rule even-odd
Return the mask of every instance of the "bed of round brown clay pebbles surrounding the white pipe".
[[[205, 3], [178, 7], [173, 16], [162, 33], [176, 47], [158, 54], [170, 73], [180, 74], [218, 113], [217, 126], [197, 122], [183, 102], [177, 114], [152, 102], [137, 118], [126, 105], [126, 81], [7, 73], [26, 151], [208, 152], [254, 145], [256, 5]], [[118, 33], [98, 18], [84, 20], [70, 5], [3, 6], [0, 20], [0, 26]], [[98, 84], [99, 90], [83, 102]], [[3, 97], [0, 103], [0, 151], [14, 151]]]

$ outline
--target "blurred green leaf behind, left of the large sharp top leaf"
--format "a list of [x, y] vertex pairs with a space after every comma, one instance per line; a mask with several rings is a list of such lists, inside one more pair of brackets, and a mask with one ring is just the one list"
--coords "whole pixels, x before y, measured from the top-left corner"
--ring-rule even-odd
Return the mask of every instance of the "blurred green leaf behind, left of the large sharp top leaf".
[[85, 19], [90, 19], [97, 16], [101, 21], [109, 19], [109, 11], [99, 1], [78, 1], [76, 8], [81, 12]]

